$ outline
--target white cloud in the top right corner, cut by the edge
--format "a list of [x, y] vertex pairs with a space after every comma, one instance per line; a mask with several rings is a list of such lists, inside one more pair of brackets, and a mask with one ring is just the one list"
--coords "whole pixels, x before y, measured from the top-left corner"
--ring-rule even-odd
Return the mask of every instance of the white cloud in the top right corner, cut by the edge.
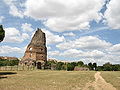
[[106, 23], [112, 29], [120, 29], [120, 0], [110, 0], [105, 11]]

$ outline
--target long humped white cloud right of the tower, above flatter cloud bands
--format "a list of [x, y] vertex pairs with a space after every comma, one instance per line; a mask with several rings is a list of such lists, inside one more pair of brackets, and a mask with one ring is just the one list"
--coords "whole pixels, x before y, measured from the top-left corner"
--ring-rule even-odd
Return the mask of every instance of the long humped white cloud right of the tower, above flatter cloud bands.
[[101, 40], [96, 36], [84, 36], [76, 39], [74, 41], [67, 41], [56, 45], [57, 48], [65, 49], [83, 49], [83, 50], [95, 50], [95, 49], [105, 49], [110, 47], [112, 44]]

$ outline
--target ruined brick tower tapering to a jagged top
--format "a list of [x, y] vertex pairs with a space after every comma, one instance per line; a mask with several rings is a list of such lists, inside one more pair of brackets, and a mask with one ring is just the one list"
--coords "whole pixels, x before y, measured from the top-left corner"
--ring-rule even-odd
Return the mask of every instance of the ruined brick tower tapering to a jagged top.
[[41, 29], [37, 29], [30, 44], [27, 46], [22, 61], [25, 64], [33, 64], [38, 69], [43, 69], [47, 62], [47, 48], [46, 48], [46, 37], [45, 33]]

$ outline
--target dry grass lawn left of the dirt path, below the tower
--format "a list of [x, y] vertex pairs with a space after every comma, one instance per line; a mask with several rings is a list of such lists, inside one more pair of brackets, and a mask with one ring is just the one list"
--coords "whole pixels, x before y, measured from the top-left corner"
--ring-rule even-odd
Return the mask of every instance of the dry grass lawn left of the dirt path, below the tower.
[[94, 71], [34, 70], [16, 73], [0, 79], [0, 90], [82, 90], [86, 83], [95, 80]]

